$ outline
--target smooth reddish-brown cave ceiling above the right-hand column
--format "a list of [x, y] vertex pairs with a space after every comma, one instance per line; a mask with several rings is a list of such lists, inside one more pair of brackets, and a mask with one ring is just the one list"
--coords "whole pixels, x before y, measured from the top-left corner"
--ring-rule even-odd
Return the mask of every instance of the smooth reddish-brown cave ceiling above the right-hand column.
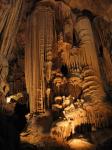
[[[38, 0], [26, 0], [28, 6], [35, 5]], [[88, 9], [96, 15], [104, 17], [106, 20], [112, 21], [112, 0], [63, 0], [69, 3], [69, 6], [74, 9]], [[69, 2], [68, 2], [69, 1]], [[27, 6], [27, 5], [26, 5]], [[28, 10], [29, 7], [26, 7]]]

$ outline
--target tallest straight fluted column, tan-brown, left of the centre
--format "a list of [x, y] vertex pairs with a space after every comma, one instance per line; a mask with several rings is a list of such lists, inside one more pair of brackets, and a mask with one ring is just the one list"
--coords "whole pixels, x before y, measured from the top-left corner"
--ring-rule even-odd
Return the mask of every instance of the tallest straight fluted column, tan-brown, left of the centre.
[[25, 51], [25, 78], [30, 112], [44, 112], [45, 62], [54, 42], [54, 12], [46, 3], [37, 3], [28, 19], [28, 41]]

